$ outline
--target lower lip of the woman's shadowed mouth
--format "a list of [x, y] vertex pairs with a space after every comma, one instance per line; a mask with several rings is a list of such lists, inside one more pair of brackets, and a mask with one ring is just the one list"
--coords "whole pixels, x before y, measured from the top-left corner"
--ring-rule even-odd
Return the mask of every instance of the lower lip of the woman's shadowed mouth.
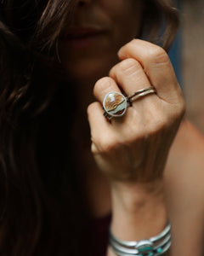
[[69, 45], [71, 49], [85, 49], [88, 47], [92, 47], [103, 35], [104, 33], [94, 33], [88, 36], [84, 36], [82, 38], [65, 38], [63, 39], [63, 43]]

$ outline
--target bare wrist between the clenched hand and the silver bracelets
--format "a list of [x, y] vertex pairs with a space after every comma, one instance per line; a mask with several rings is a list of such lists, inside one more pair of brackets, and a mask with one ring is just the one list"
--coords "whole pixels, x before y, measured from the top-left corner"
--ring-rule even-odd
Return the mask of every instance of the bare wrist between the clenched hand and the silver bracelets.
[[[114, 236], [122, 241], [140, 241], [161, 233], [167, 224], [161, 181], [151, 187], [116, 183], [111, 188], [111, 232]], [[116, 254], [109, 248], [107, 255]]]

